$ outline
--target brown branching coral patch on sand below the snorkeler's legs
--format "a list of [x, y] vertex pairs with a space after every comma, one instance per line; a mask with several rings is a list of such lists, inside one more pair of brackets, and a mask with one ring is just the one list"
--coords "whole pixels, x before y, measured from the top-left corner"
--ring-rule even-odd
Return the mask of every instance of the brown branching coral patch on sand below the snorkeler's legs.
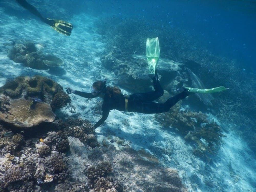
[[222, 141], [221, 127], [209, 120], [202, 112], [180, 111], [180, 101], [167, 113], [156, 114], [156, 119], [164, 127], [172, 126], [184, 136], [185, 140], [196, 144], [194, 153], [207, 161], [216, 153]]

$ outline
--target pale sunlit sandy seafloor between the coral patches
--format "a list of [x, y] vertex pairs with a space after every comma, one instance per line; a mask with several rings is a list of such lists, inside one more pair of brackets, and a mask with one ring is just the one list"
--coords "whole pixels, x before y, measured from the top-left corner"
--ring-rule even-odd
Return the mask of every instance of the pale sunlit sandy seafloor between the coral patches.
[[[7, 79], [35, 74], [55, 80], [64, 89], [71, 87], [85, 92], [90, 91], [95, 80], [107, 78], [108, 85], [116, 83], [114, 74], [101, 66], [100, 57], [105, 45], [100, 41], [100, 35], [93, 32], [93, 21], [96, 18], [85, 14], [74, 15], [69, 21], [74, 25], [72, 35], [67, 37], [35, 19], [20, 20], [4, 15], [1, 8], [0, 15], [0, 86]], [[34, 41], [40, 45], [43, 53], [54, 54], [65, 64], [58, 70], [47, 71], [15, 63], [7, 57], [12, 46], [5, 46], [4, 43], [10, 43], [9, 39]], [[118, 83], [115, 85], [118, 86]], [[59, 113], [75, 115], [93, 124], [101, 118], [91, 110], [100, 99], [89, 100], [78, 95], [74, 95], [74, 99], [76, 113], [70, 113], [69, 106]], [[209, 114], [209, 118], [214, 117]], [[256, 191], [256, 160], [253, 153], [239, 135], [231, 131], [232, 125], [221, 126], [228, 132], [223, 132], [226, 137], [211, 165], [194, 156], [192, 147], [172, 132], [174, 128], [163, 130], [154, 120], [154, 114], [112, 110], [106, 122], [96, 132], [98, 140], [115, 135], [126, 140], [136, 150], [146, 149], [157, 156], [164, 166], [177, 169], [189, 191]]]

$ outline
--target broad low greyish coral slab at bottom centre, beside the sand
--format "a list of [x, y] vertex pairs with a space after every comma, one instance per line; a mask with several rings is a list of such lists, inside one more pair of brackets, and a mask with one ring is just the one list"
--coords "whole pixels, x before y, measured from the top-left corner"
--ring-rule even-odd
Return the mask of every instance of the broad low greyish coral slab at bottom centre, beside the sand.
[[79, 140], [69, 138], [69, 141], [70, 158], [81, 154], [77, 164], [71, 165], [76, 170], [74, 174], [79, 178], [85, 172], [92, 191], [187, 191], [176, 170], [152, 163], [130, 147], [116, 150], [110, 144], [85, 150]]

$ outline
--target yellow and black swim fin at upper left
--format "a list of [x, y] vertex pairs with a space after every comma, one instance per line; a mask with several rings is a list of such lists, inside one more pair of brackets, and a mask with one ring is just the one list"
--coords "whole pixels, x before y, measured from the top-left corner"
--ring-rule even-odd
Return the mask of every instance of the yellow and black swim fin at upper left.
[[54, 28], [59, 33], [62, 33], [63, 35], [71, 35], [71, 31], [73, 29], [73, 25], [71, 23], [62, 20], [48, 18], [45, 20], [45, 23], [47, 23], [48, 25], [50, 25], [52, 28]]

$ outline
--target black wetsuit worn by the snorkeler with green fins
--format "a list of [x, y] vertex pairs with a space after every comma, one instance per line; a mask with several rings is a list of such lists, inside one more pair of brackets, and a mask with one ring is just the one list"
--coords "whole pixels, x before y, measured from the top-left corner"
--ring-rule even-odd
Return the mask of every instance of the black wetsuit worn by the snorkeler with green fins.
[[[165, 103], [156, 103], [153, 101], [161, 97], [164, 94], [164, 90], [159, 81], [155, 80], [155, 78], [153, 79], [153, 84], [155, 91], [147, 93], [134, 93], [128, 97], [128, 112], [167, 112], [173, 105], [175, 105], [175, 103], [189, 95], [187, 91], [184, 91], [169, 98]], [[91, 93], [75, 91], [75, 94], [85, 98], [95, 98], [95, 96]], [[102, 118], [94, 125], [94, 127], [97, 128], [108, 118], [110, 110], [116, 109], [119, 111], [125, 111], [125, 98], [127, 97], [125, 97], [123, 94], [117, 94], [114, 95], [114, 97], [110, 97], [108, 94], [105, 94], [102, 104]]]

